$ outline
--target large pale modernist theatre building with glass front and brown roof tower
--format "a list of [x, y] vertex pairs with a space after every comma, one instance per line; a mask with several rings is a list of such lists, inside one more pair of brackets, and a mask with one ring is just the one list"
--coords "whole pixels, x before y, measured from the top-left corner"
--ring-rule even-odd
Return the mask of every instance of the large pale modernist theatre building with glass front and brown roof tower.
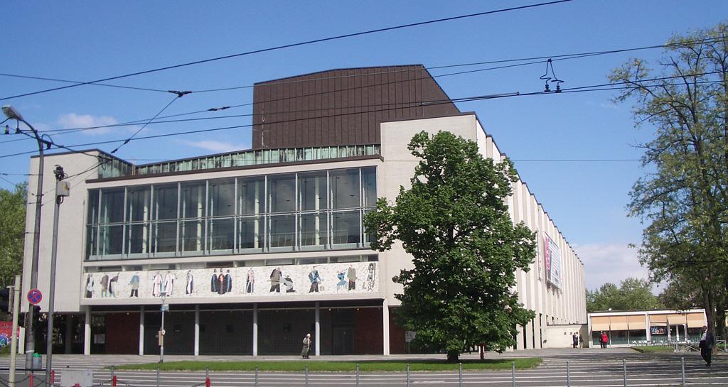
[[[45, 157], [44, 191], [56, 164], [74, 176], [60, 205], [55, 351], [158, 354], [162, 329], [165, 354], [298, 354], [306, 333], [312, 354], [407, 350], [392, 276], [411, 257], [397, 245], [371, 250], [362, 218], [376, 198], [393, 200], [409, 184], [417, 161], [407, 143], [417, 132], [454, 132], [484, 156], [504, 154], [422, 65], [266, 81], [253, 102], [247, 150], [143, 165], [98, 150]], [[41, 220], [42, 311], [51, 195]], [[584, 268], [525, 183], [514, 183], [508, 204], [539, 241], [531, 271], [516, 274], [514, 290], [536, 312], [516, 348], [540, 348], [548, 326], [585, 324]]]

